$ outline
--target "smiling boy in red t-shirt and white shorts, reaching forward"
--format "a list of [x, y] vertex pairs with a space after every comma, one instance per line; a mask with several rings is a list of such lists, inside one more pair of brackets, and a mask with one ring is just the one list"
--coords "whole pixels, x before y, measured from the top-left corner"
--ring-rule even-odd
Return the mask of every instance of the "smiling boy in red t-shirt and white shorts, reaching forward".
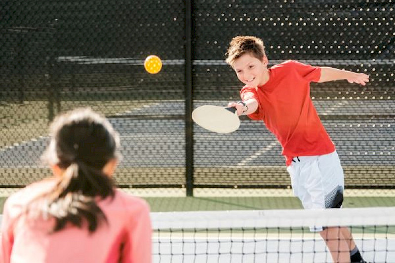
[[[310, 98], [310, 82], [347, 79], [365, 85], [366, 74], [313, 67], [288, 60], [271, 68], [263, 41], [256, 37], [232, 39], [226, 62], [245, 85], [242, 101], [231, 102], [237, 114], [263, 120], [282, 146], [294, 194], [305, 209], [340, 208], [343, 169], [334, 144]], [[333, 262], [365, 263], [347, 227], [317, 227]]]

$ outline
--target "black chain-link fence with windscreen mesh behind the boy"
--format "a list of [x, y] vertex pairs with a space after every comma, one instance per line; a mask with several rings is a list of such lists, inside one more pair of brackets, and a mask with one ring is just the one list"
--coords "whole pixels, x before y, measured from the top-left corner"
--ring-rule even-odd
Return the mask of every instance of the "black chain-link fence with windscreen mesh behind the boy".
[[[2, 1], [0, 185], [50, 175], [39, 158], [49, 122], [91, 107], [121, 135], [121, 187], [289, 188], [263, 123], [242, 118], [229, 135], [189, 127], [192, 108], [239, 99], [225, 52], [234, 36], [254, 35], [270, 65], [295, 59], [370, 75], [366, 86], [314, 83], [311, 96], [346, 187], [395, 188], [394, 8], [389, 0]], [[157, 75], [143, 67], [151, 54], [163, 62]]]

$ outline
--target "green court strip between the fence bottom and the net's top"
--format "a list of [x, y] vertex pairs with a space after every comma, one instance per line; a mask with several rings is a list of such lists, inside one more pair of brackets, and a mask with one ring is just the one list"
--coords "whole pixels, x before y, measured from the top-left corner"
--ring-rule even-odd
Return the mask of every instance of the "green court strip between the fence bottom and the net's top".
[[[296, 197], [144, 197], [152, 212], [302, 208]], [[0, 198], [1, 212], [6, 197]], [[395, 197], [346, 197], [343, 207], [395, 206]]]

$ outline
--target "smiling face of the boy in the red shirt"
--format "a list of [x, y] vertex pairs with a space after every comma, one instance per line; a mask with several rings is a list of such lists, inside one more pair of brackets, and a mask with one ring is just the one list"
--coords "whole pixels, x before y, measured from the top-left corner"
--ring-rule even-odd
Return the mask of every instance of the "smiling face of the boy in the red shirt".
[[250, 87], [257, 87], [262, 86], [269, 79], [267, 66], [266, 56], [259, 60], [251, 54], [245, 53], [235, 60], [233, 69], [241, 82]]

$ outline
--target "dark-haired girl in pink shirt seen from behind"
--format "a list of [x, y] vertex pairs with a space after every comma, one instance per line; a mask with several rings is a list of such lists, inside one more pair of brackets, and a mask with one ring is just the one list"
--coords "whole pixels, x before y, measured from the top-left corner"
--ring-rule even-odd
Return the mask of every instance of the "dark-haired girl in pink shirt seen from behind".
[[58, 116], [43, 159], [53, 178], [11, 195], [0, 262], [151, 263], [148, 204], [114, 187], [119, 137], [89, 109]]

